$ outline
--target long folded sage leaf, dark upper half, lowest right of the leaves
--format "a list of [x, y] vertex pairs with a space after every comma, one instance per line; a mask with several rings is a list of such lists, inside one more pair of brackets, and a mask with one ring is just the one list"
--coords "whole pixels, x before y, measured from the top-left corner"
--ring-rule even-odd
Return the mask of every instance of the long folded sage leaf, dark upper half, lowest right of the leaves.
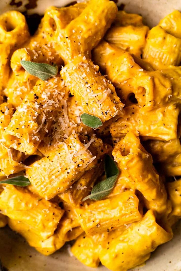
[[110, 194], [118, 178], [119, 169], [114, 160], [108, 154], [106, 154], [104, 158], [104, 170], [106, 173], [106, 179], [97, 183], [97, 185], [93, 187], [91, 194], [85, 197], [82, 201], [85, 201], [86, 199], [94, 199], [95, 201], [98, 201]]

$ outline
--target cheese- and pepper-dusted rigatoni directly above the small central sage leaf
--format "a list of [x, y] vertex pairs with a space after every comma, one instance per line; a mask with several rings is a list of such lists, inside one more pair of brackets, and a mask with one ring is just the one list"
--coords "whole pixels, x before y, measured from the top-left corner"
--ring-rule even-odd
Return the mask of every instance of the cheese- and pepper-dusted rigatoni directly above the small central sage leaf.
[[95, 115], [102, 121], [120, 113], [123, 105], [114, 86], [100, 74], [99, 67], [86, 58], [82, 61], [74, 59], [67, 64], [63, 67], [61, 76], [71, 94], [81, 101], [84, 112]]

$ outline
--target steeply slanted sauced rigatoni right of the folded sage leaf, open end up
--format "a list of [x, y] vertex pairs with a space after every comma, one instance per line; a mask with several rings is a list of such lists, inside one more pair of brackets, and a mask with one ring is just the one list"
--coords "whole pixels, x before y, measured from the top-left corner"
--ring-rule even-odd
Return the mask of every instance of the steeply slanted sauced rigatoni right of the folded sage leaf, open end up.
[[157, 174], [151, 155], [141, 146], [138, 137], [129, 131], [115, 146], [113, 156], [122, 174], [132, 182], [131, 187], [143, 194], [147, 208], [165, 212], [167, 194], [164, 180]]

